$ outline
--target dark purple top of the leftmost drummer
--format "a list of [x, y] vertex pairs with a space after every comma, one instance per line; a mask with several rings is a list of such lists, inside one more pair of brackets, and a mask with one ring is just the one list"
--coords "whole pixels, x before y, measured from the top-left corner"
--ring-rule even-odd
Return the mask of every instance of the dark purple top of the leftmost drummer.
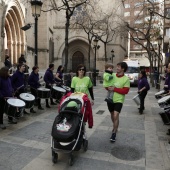
[[12, 88], [10, 77], [6, 79], [0, 77], [0, 98], [12, 97], [12, 93], [13, 93], [13, 88]]

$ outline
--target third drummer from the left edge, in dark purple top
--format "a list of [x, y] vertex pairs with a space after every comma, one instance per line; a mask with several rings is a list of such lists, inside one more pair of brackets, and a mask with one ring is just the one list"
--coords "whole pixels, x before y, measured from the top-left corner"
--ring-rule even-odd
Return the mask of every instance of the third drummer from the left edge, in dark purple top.
[[[39, 72], [39, 67], [34, 66], [32, 68], [32, 72], [28, 78], [28, 84], [30, 85], [31, 94], [36, 97], [36, 103], [38, 104], [38, 109], [44, 110], [41, 106], [41, 99], [37, 98], [37, 89], [41, 86], [41, 84], [39, 82], [40, 78], [39, 78], [38, 72]], [[30, 112], [35, 113], [33, 108], [30, 109]]]

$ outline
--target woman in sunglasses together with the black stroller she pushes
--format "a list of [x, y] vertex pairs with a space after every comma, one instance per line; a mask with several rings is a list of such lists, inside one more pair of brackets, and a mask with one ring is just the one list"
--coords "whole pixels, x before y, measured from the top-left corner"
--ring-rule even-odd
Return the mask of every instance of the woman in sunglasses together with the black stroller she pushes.
[[[94, 103], [93, 85], [89, 77], [85, 76], [86, 68], [80, 64], [77, 67], [76, 76], [71, 82], [73, 93], [67, 93], [62, 97], [58, 108], [59, 114], [55, 118], [52, 127], [52, 162], [57, 163], [58, 153], [69, 153], [69, 164], [73, 165], [73, 151], [80, 150], [83, 146], [87, 150], [85, 122], [89, 128], [93, 126], [91, 105]], [[91, 97], [91, 101], [90, 101]]]

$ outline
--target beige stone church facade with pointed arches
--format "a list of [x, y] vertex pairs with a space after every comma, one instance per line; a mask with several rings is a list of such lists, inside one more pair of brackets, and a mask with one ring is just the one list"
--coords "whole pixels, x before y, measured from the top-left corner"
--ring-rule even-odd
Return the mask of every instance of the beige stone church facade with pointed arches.
[[[65, 11], [48, 11], [50, 2], [42, 1], [42, 12], [38, 17], [38, 66], [45, 70], [50, 63], [55, 68], [64, 65], [65, 62]], [[101, 0], [103, 11], [116, 7], [116, 0]], [[121, 3], [116, 7], [118, 14], [123, 16], [124, 8]], [[47, 12], [48, 11], [48, 12]], [[11, 57], [11, 62], [17, 63], [21, 54], [25, 55], [27, 65], [34, 66], [35, 59], [35, 18], [32, 16], [31, 3], [27, 0], [1, 0], [0, 1], [0, 66], [4, 66], [5, 55]], [[116, 24], [116, 23], [113, 23]], [[24, 27], [24, 30], [21, 29]], [[75, 70], [76, 66], [83, 63], [89, 70], [96, 68], [104, 70], [106, 62], [113, 62], [114, 65], [123, 61], [127, 54], [127, 38], [123, 34], [117, 34], [112, 41], [106, 44], [105, 48], [101, 41], [98, 41], [98, 48], [95, 50], [93, 44], [90, 47], [87, 34], [83, 29], [69, 29], [68, 36], [68, 65], [67, 70]], [[111, 51], [114, 50], [114, 58]], [[107, 61], [106, 61], [107, 60]]]

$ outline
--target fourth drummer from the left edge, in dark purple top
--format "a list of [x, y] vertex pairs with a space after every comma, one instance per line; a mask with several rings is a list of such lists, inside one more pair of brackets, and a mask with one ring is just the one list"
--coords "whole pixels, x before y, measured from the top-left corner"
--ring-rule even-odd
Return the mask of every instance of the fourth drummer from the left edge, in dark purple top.
[[[50, 64], [49, 68], [46, 70], [45, 75], [44, 75], [45, 87], [50, 90], [53, 84], [55, 84], [53, 70], [54, 70], [54, 64]], [[48, 99], [46, 99], [45, 101], [46, 101], [46, 107], [51, 108], [48, 103]], [[53, 98], [50, 98], [50, 101], [51, 101], [51, 105], [56, 105], [56, 103], [53, 101]]]

